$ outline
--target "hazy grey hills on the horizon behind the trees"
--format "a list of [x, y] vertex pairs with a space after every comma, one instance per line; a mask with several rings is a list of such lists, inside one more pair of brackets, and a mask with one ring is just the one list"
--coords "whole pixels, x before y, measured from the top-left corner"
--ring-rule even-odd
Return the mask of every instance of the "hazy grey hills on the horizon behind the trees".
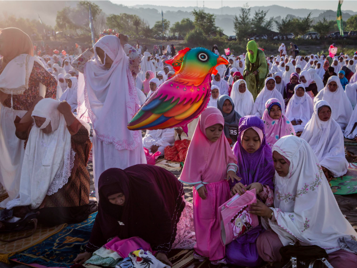
[[[79, 0], [0, 0], [0, 19], [14, 15], [16, 17], [38, 19], [41, 17], [42, 21], [50, 26], [56, 25], [57, 12], [65, 7], [75, 7]], [[135, 14], [143, 18], [152, 27], [155, 21], [161, 20], [161, 10], [164, 12], [164, 18], [168, 19], [171, 25], [176, 21], [181, 21], [183, 18], [193, 19], [191, 11], [196, 7], [167, 7], [167, 6], [154, 6], [154, 5], [137, 5], [127, 7], [123, 5], [113, 4], [109, 0], [91, 0], [97, 4], [104, 13], [109, 14]], [[216, 25], [224, 29], [226, 35], [233, 35], [233, 19], [235, 15], [239, 15], [239, 7], [223, 7], [222, 9], [209, 9], [205, 11], [216, 15]], [[268, 7], [251, 7], [251, 14], [254, 11], [269, 10], [267, 17], [275, 17], [277, 20], [285, 17], [286, 15], [304, 17], [310, 12], [315, 21], [326, 17], [326, 19], [335, 20], [336, 11], [331, 10], [310, 10], [310, 9], [291, 9], [281, 6], [268, 6]], [[357, 14], [351, 10], [343, 12], [343, 19], [347, 20], [350, 16]]]

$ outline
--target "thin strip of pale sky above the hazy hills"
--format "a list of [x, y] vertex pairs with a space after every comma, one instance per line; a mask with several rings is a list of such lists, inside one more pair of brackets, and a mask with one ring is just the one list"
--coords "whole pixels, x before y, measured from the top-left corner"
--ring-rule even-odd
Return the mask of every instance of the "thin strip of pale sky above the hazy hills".
[[[135, 6], [135, 5], [162, 5], [162, 6], [174, 6], [174, 7], [192, 7], [197, 6], [197, 0], [180, 0], [180, 1], [151, 1], [147, 0], [133, 0], [128, 3], [127, 0], [110, 0], [115, 4], [122, 4], [124, 6]], [[223, 3], [221, 3], [221, 1]], [[249, 6], [271, 6], [278, 5], [289, 8], [306, 8], [306, 9], [323, 9], [323, 10], [337, 10], [338, 0], [299, 0], [299, 1], [288, 1], [288, 0], [205, 0], [205, 7], [208, 8], [220, 8], [221, 4], [229, 7], [241, 7], [245, 3], [249, 2]], [[344, 0], [342, 4], [342, 10], [352, 10], [357, 12], [356, 0]], [[268, 4], [267, 4], [268, 3]], [[352, 4], [353, 3], [353, 4]], [[203, 7], [203, 0], [198, 0], [198, 7]]]

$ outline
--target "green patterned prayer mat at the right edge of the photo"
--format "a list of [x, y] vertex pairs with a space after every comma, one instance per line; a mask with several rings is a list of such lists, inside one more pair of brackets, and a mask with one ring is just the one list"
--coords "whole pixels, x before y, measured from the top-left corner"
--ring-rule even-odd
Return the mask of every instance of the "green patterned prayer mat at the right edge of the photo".
[[357, 193], [357, 163], [349, 163], [346, 175], [333, 178], [329, 184], [334, 194]]

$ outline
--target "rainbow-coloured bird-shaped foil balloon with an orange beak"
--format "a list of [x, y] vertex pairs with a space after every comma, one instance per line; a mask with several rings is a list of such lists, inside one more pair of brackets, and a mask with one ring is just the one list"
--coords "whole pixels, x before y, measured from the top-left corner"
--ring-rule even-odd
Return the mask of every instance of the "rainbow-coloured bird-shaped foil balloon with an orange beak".
[[174, 76], [151, 94], [127, 124], [128, 129], [183, 127], [185, 130], [210, 101], [211, 74], [217, 74], [215, 67], [228, 64], [227, 60], [202, 47], [186, 47], [166, 63], [173, 66]]

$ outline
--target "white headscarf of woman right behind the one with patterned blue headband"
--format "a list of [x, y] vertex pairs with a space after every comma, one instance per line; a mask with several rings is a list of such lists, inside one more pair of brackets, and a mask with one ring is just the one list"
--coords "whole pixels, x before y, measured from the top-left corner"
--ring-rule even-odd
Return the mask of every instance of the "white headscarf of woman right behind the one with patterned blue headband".
[[[331, 92], [328, 89], [328, 84], [332, 81], [336, 82], [338, 86], [335, 92]], [[315, 96], [314, 104], [321, 100], [330, 104], [329, 106], [331, 107], [331, 111], [333, 111], [331, 116], [340, 125], [342, 131], [344, 131], [349, 122], [349, 119], [351, 118], [353, 109], [350, 101], [347, 98], [347, 95], [343, 90], [340, 79], [337, 76], [331, 76], [327, 80], [324, 89], [322, 89]]]

